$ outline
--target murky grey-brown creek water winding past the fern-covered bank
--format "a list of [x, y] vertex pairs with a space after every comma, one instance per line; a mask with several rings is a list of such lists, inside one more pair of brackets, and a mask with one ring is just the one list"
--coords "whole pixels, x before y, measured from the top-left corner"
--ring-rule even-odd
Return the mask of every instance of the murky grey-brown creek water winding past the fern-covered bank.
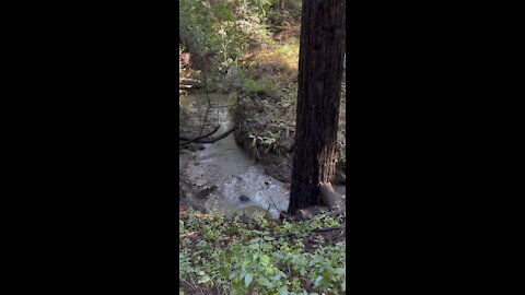
[[[210, 94], [212, 103], [208, 121], [221, 127], [215, 134], [221, 134], [233, 127], [229, 107], [229, 95]], [[184, 123], [197, 125], [208, 107], [206, 95], [187, 95], [180, 97], [180, 107], [190, 114]], [[272, 217], [289, 205], [289, 184], [277, 180], [265, 174], [262, 167], [256, 165], [244, 150], [235, 143], [233, 133], [197, 151], [180, 161], [182, 178], [194, 186], [194, 193], [188, 193], [190, 203], [200, 202], [211, 212], [231, 216], [242, 208], [259, 206]], [[198, 191], [211, 191], [205, 197]], [[196, 193], [197, 192], [197, 193]], [[247, 197], [247, 198], [246, 198]]]

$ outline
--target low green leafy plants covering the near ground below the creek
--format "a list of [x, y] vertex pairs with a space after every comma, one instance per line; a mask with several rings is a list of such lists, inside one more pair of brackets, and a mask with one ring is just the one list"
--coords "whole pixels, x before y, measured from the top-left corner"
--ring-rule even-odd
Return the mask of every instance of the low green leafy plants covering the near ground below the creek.
[[[221, 294], [339, 294], [345, 292], [345, 243], [318, 246], [307, 251], [303, 238], [316, 228], [341, 225], [339, 217], [317, 215], [303, 222], [276, 223], [258, 214], [253, 223], [238, 216], [196, 216], [190, 212], [185, 233], [197, 232], [198, 240], [182, 238], [179, 280]], [[275, 236], [295, 233], [296, 237]], [[308, 285], [305, 282], [312, 282]]]

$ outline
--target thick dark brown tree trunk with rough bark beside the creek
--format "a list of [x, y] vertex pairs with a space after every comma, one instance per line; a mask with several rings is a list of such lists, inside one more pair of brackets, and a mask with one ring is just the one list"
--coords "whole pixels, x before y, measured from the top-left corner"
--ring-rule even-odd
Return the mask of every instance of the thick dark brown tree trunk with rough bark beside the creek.
[[320, 205], [332, 180], [345, 56], [345, 0], [304, 0], [289, 212]]

